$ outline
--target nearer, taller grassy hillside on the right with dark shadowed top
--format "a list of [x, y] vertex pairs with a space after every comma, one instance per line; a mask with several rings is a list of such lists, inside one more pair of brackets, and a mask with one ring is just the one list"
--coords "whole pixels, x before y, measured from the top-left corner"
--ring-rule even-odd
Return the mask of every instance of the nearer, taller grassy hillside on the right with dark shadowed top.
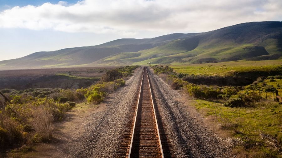
[[[159, 47], [116, 54], [97, 63], [179, 64], [274, 60], [282, 56], [282, 22], [250, 22], [199, 33]], [[127, 53], [131, 54], [131, 53]]]

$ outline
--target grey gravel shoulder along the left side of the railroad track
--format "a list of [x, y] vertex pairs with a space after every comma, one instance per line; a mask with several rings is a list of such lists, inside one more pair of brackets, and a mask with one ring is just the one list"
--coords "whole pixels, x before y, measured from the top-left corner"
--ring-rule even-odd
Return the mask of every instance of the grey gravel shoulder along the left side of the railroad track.
[[143, 68], [138, 68], [126, 81], [126, 86], [107, 96], [104, 111], [87, 118], [85, 131], [68, 157], [115, 157], [142, 71]]

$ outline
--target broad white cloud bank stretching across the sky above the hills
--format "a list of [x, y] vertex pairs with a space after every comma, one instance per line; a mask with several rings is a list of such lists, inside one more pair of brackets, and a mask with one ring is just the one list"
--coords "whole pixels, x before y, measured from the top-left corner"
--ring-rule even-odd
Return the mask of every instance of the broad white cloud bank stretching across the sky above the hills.
[[84, 0], [13, 7], [0, 27], [62, 32], [135, 34], [139, 31], [205, 32], [252, 21], [282, 19], [279, 0]]

